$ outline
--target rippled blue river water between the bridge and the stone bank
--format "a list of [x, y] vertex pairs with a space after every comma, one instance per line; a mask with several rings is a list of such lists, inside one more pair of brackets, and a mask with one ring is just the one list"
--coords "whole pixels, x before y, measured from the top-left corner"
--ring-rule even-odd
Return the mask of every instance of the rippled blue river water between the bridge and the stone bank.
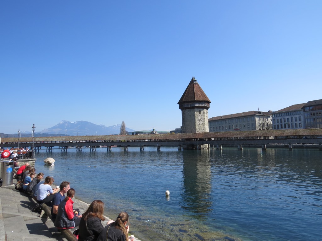
[[[43, 165], [47, 157], [54, 167]], [[143, 241], [321, 240], [319, 150], [71, 148], [36, 158], [37, 173], [70, 181], [87, 203], [101, 199], [108, 217], [127, 211]]]

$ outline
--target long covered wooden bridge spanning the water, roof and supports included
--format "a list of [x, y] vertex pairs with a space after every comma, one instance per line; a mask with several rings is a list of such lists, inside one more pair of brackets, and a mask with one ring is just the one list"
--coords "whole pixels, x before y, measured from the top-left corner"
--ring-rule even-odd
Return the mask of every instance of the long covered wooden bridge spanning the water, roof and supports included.
[[[32, 146], [32, 138], [19, 138], [20, 147]], [[82, 147], [144, 147], [155, 146], [157, 150], [164, 147], [178, 147], [183, 149], [214, 148], [221, 149], [223, 145], [242, 149], [243, 145], [266, 148], [266, 145], [287, 145], [290, 149], [294, 146], [309, 145], [322, 150], [322, 129], [295, 129], [295, 130], [252, 130], [252, 131], [227, 131], [204, 132], [185, 134], [159, 134], [159, 135], [115, 135], [115, 136], [66, 136], [66, 137], [35, 137], [34, 148], [39, 150], [46, 147], [48, 151], [52, 147], [61, 147], [67, 151], [68, 147], [76, 147], [81, 151]], [[17, 147], [18, 138], [1, 138], [1, 147]], [[274, 146], [276, 147], [276, 146]]]

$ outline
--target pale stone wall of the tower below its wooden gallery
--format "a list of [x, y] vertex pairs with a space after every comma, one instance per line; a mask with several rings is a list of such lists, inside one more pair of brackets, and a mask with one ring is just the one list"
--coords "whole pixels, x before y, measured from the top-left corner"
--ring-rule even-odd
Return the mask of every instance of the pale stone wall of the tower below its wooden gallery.
[[182, 133], [209, 132], [208, 110], [186, 109], [182, 110]]

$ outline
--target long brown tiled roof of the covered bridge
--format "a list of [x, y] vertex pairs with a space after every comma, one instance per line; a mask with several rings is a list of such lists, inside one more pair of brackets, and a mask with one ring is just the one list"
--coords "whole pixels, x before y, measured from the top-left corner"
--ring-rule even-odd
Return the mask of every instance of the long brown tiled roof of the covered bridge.
[[[121, 140], [177, 140], [200, 138], [233, 138], [233, 137], [270, 137], [270, 136], [321, 136], [322, 129], [292, 129], [292, 130], [250, 130], [250, 131], [224, 131], [185, 134], [159, 134], [159, 135], [118, 135], [118, 136], [65, 136], [65, 137], [35, 137], [34, 142], [51, 141], [121, 141]], [[1, 138], [1, 143], [17, 142], [18, 138]], [[19, 142], [32, 143], [32, 137], [19, 138]]]

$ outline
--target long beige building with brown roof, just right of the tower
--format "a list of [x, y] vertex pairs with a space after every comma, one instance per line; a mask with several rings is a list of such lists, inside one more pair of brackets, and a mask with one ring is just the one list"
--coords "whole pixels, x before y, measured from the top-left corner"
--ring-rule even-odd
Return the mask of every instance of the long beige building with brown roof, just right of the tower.
[[272, 129], [272, 112], [249, 111], [208, 120], [209, 132]]

